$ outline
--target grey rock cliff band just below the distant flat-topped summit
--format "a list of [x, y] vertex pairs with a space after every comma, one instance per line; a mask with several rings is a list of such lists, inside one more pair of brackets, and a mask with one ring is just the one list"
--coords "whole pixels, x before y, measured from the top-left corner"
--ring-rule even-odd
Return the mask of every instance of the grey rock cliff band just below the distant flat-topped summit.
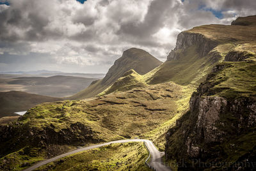
[[184, 31], [177, 37], [176, 47], [170, 52], [167, 61], [178, 60], [180, 54], [191, 46], [196, 46], [198, 56], [206, 56], [214, 47], [218, 45], [217, 41], [206, 38], [204, 34], [189, 33]]

